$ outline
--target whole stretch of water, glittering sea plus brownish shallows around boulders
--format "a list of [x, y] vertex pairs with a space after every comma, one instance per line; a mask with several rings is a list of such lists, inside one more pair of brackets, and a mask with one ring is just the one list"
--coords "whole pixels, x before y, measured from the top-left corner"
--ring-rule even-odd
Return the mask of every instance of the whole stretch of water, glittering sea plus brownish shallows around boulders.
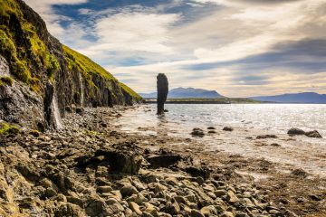
[[[168, 134], [191, 137], [194, 127], [206, 132], [216, 127], [217, 134], [196, 138], [206, 149], [225, 151], [242, 156], [266, 158], [283, 165], [302, 167], [326, 176], [326, 139], [305, 136], [289, 137], [291, 127], [318, 130], [326, 137], [326, 105], [311, 104], [229, 104], [179, 105], [168, 104], [164, 117], [156, 116], [156, 105], [142, 106], [127, 112], [119, 120], [122, 130], [145, 135]], [[235, 127], [233, 132], [221, 130]], [[278, 138], [247, 139], [264, 134]], [[271, 146], [277, 143], [279, 146]]]

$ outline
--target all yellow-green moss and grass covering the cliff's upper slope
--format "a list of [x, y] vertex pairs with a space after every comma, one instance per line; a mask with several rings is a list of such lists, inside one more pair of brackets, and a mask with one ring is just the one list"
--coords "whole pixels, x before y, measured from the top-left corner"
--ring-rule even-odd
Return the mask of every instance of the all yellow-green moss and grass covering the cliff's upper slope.
[[[20, 47], [14, 42], [16, 33], [8, 28], [9, 21], [13, 16], [19, 20], [19, 24], [25, 34], [24, 37], [29, 41], [30, 47]], [[93, 74], [98, 74], [106, 80], [114, 80], [120, 83], [110, 72], [105, 71], [88, 57], [66, 46], [63, 46], [63, 50], [69, 67], [77, 67], [91, 85], [95, 86], [91, 81]], [[10, 71], [14, 74], [14, 79], [23, 81], [31, 87], [31, 90], [36, 92], [40, 91], [40, 80], [42, 77], [40, 71], [44, 71], [49, 80], [53, 80], [54, 73], [60, 69], [55, 56], [48, 51], [43, 41], [40, 40], [35, 32], [34, 25], [24, 19], [19, 5], [14, 0], [0, 0], [0, 54], [9, 62]], [[29, 58], [31, 56], [33, 56], [33, 61]], [[1, 82], [1, 84], [3, 85], [4, 82]], [[120, 87], [126, 90], [133, 98], [141, 99], [136, 92], [126, 85], [120, 83]]]

